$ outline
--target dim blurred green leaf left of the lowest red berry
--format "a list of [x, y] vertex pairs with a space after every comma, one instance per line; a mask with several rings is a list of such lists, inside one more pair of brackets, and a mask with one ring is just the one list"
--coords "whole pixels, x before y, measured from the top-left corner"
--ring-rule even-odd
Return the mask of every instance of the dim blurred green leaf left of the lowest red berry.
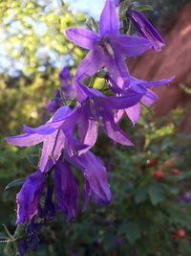
[[126, 227], [126, 238], [130, 244], [134, 244], [141, 236], [141, 230], [136, 222], [129, 222], [125, 225]]

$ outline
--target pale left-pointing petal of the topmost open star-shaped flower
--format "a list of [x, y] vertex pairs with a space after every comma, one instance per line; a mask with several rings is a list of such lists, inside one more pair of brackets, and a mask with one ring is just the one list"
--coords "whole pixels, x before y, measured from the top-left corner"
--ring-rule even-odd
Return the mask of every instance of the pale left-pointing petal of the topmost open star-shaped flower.
[[98, 39], [96, 33], [80, 28], [69, 28], [65, 31], [65, 34], [76, 45], [87, 50], [91, 50]]

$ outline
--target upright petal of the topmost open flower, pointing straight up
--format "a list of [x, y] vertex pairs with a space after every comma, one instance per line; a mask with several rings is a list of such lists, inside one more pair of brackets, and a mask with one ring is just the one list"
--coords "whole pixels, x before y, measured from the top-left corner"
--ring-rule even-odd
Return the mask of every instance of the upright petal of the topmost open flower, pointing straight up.
[[99, 34], [101, 36], [117, 35], [118, 29], [119, 21], [115, 3], [111, 0], [106, 0], [99, 19]]

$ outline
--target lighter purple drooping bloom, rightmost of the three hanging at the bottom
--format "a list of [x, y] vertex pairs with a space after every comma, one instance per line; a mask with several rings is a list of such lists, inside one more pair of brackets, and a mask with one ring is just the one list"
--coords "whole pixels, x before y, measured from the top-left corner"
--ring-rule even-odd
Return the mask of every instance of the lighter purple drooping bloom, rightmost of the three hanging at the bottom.
[[108, 203], [111, 200], [111, 192], [107, 183], [107, 171], [100, 160], [91, 151], [66, 157], [75, 168], [82, 171], [85, 178], [83, 210], [86, 209], [89, 198], [97, 203]]

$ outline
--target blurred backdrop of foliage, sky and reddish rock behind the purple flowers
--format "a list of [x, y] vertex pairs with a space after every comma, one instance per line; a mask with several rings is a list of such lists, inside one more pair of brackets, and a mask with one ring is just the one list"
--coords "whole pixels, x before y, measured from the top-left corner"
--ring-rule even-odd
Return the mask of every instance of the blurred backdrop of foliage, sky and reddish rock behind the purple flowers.
[[[105, 163], [113, 193], [108, 206], [91, 203], [73, 222], [63, 215], [44, 225], [40, 245], [29, 255], [50, 256], [190, 256], [191, 255], [191, 3], [138, 1], [152, 4], [145, 12], [163, 35], [166, 47], [127, 60], [142, 80], [176, 75], [157, 89], [154, 111], [142, 109], [138, 124], [121, 126], [134, 148], [113, 144], [100, 134], [94, 151]], [[18, 149], [4, 137], [22, 133], [22, 125], [48, 120], [49, 99], [60, 85], [58, 73], [68, 65], [74, 74], [85, 55], [63, 34], [98, 18], [104, 1], [0, 1], [0, 224], [15, 230], [15, 195], [4, 191], [16, 178], [31, 174], [40, 147]], [[156, 172], [163, 170], [161, 179]], [[175, 175], [173, 170], [179, 170]], [[82, 185], [80, 175], [76, 178]], [[184, 231], [180, 237], [179, 231]], [[7, 239], [0, 225], [0, 240]], [[0, 255], [16, 255], [15, 244], [0, 243]]]

